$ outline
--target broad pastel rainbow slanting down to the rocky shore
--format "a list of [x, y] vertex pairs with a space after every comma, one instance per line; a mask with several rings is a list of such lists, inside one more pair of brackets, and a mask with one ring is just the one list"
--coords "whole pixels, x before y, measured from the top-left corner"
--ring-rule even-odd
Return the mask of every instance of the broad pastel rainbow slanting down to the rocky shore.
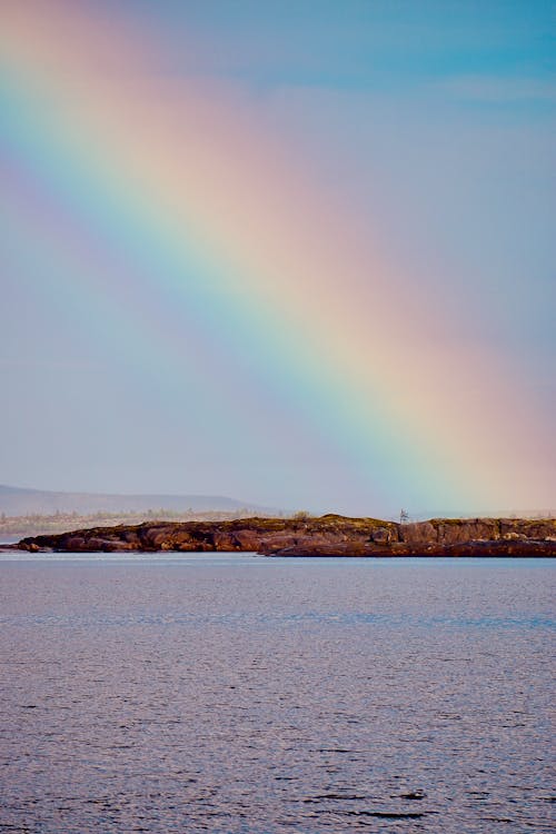
[[246, 454], [296, 435], [369, 510], [547, 506], [552, 429], [505, 357], [395, 272], [256, 102], [169, 77], [163, 42], [105, 16], [7, 0], [0, 42], [12, 235], [112, 321], [107, 349], [162, 403], [240, 400], [226, 436]]

